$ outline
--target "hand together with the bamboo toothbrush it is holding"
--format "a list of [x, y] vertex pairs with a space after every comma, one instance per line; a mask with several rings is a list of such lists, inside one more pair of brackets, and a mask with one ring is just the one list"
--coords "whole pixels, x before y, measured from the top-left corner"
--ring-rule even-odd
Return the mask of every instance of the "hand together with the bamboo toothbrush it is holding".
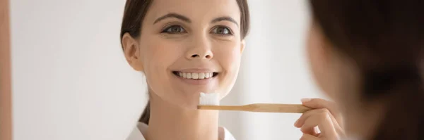
[[[336, 104], [321, 98], [304, 98], [302, 104], [254, 103], [244, 106], [219, 106], [218, 94], [201, 93], [198, 109], [239, 110], [264, 113], [303, 113], [295, 127], [303, 132], [301, 140], [338, 140], [345, 137], [343, 119]], [[317, 132], [319, 127], [319, 132]]]

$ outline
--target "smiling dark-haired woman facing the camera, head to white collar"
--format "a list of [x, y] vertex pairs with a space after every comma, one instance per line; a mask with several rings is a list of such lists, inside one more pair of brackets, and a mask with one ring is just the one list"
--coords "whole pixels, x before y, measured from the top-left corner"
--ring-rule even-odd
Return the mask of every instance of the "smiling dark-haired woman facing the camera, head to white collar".
[[232, 89], [248, 30], [246, 0], [126, 1], [122, 49], [150, 96], [129, 139], [232, 139], [218, 111], [196, 106], [201, 92]]

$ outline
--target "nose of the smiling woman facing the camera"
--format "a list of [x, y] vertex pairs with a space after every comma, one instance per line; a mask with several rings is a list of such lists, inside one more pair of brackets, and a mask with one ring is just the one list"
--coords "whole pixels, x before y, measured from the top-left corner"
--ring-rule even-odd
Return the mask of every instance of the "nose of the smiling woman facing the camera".
[[189, 60], [192, 59], [207, 59], [210, 60], [213, 58], [213, 53], [211, 51], [211, 43], [206, 39], [206, 37], [203, 37], [200, 39], [200, 37], [196, 37], [189, 49], [187, 51], [186, 58]]

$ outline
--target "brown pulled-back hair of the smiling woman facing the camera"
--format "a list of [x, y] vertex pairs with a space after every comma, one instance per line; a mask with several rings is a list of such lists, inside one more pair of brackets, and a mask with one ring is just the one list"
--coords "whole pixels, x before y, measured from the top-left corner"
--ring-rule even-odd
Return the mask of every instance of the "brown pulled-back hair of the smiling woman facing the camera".
[[[144, 16], [146, 15], [149, 6], [153, 0], [126, 0], [124, 18], [122, 20], [121, 27], [121, 42], [122, 37], [126, 32], [131, 34], [131, 37], [139, 37], [141, 33], [141, 23], [143, 23]], [[241, 38], [245, 39], [249, 32], [249, 7], [247, 0], [236, 0], [240, 8], [241, 23], [240, 23], [240, 34]], [[150, 101], [148, 101], [146, 109], [140, 117], [139, 122], [144, 122], [148, 125], [150, 119]]]

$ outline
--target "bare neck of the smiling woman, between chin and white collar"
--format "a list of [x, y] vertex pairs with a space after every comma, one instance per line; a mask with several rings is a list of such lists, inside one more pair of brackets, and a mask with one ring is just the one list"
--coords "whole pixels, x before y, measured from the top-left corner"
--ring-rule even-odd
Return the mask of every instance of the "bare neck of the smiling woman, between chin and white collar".
[[217, 140], [218, 111], [181, 108], [151, 94], [148, 140]]

